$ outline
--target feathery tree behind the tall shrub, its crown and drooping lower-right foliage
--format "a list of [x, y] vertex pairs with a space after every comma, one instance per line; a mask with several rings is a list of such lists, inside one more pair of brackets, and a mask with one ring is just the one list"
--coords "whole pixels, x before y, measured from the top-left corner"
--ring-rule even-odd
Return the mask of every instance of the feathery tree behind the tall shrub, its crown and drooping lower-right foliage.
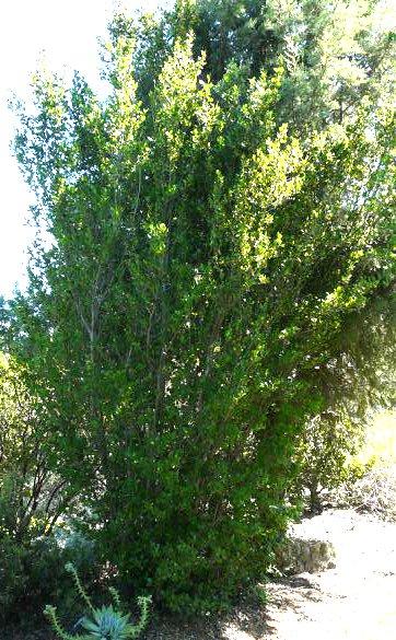
[[[364, 98], [372, 109], [394, 101], [395, 13], [389, 2], [187, 0], [162, 22], [162, 33], [171, 32], [172, 42], [172, 33], [185, 33], [186, 24], [194, 26], [195, 51], [207, 51], [205, 70], [212, 78], [221, 78], [231, 60], [254, 77], [263, 69], [272, 73], [281, 62], [275, 116], [300, 137], [313, 126], [353, 120]], [[394, 315], [384, 309], [378, 313], [375, 305], [356, 314], [338, 356], [316, 372], [323, 406], [302, 435], [298, 479], [300, 487], [310, 487], [316, 508], [319, 486], [341, 481], [345, 461], [359, 446], [373, 406], [386, 406], [393, 394]]]

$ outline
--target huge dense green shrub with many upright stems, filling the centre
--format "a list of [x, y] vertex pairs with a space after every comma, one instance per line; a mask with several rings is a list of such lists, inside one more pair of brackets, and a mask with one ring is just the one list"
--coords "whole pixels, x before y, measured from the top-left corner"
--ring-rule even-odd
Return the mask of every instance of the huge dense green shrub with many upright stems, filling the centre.
[[394, 286], [391, 38], [287, 5], [116, 15], [104, 102], [42, 74], [21, 109], [38, 235], [9, 349], [100, 557], [174, 610], [265, 571], [304, 424]]

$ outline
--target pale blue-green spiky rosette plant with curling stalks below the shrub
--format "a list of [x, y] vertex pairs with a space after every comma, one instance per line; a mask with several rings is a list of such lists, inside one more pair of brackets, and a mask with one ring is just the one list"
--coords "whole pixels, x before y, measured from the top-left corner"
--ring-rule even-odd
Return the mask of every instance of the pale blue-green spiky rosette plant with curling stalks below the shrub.
[[140, 619], [136, 625], [130, 622], [130, 614], [121, 612], [121, 602], [116, 589], [110, 587], [108, 591], [113, 598], [114, 605], [103, 605], [96, 608], [92, 605], [91, 598], [84, 590], [75, 567], [68, 562], [66, 570], [72, 574], [75, 583], [75, 589], [90, 609], [90, 616], [83, 616], [75, 626], [80, 626], [88, 633], [71, 636], [61, 627], [57, 609], [54, 606], [47, 605], [44, 609], [54, 631], [60, 640], [128, 640], [137, 638], [144, 629], [149, 618], [149, 605], [151, 596], [142, 596], [138, 598], [140, 607]]

